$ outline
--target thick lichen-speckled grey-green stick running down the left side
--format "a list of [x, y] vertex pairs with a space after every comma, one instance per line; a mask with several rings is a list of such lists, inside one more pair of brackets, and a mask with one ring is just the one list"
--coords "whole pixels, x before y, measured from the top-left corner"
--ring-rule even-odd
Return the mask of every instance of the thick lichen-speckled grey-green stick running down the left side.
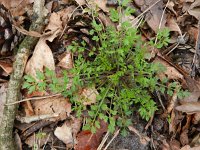
[[[44, 3], [44, 0], [35, 0], [34, 14], [37, 18], [36, 20], [33, 20], [29, 30], [37, 32], [41, 32], [43, 30], [44, 18], [46, 17], [44, 15]], [[36, 37], [26, 36], [19, 45], [15, 62], [13, 64], [13, 72], [8, 83], [6, 103], [13, 103], [19, 100], [24, 68], [30, 52], [36, 45], [37, 41], [38, 38]], [[3, 117], [0, 123], [0, 150], [15, 150], [13, 125], [17, 109], [18, 105], [5, 105], [3, 109]]]

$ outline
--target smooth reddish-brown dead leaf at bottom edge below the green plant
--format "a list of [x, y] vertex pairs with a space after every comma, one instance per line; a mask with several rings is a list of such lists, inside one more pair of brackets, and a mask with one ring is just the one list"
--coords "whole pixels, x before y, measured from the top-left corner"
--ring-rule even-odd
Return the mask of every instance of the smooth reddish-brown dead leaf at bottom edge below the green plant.
[[77, 136], [75, 150], [96, 150], [101, 142], [104, 133], [107, 131], [107, 123], [100, 121], [100, 129], [92, 134], [90, 131], [81, 131]]

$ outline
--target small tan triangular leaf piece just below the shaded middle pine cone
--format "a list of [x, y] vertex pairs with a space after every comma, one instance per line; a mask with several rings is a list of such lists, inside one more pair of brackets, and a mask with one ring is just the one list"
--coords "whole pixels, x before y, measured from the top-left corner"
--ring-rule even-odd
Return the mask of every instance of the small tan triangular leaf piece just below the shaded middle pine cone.
[[72, 60], [72, 54], [71, 52], [64, 53], [64, 56], [62, 54], [62, 57], [60, 62], [57, 66], [60, 66], [65, 69], [72, 69], [73, 68], [73, 60]]

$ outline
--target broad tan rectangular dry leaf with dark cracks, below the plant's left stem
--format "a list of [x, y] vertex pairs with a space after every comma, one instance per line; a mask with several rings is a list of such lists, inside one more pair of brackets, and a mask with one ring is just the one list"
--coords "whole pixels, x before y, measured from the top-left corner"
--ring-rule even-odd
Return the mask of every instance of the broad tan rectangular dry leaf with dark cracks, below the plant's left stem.
[[[59, 114], [57, 118], [51, 118], [51, 121], [64, 120], [71, 113], [71, 104], [69, 99], [57, 96], [40, 101], [33, 101], [35, 115]], [[66, 114], [67, 113], [67, 114]]]

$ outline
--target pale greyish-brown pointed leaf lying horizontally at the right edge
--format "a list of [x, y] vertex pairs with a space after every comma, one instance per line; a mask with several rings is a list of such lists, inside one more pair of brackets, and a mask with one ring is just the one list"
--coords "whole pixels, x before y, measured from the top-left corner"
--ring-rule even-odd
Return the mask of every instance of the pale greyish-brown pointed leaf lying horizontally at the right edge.
[[200, 102], [183, 103], [176, 107], [176, 110], [185, 112], [187, 114], [194, 114], [200, 112]]

